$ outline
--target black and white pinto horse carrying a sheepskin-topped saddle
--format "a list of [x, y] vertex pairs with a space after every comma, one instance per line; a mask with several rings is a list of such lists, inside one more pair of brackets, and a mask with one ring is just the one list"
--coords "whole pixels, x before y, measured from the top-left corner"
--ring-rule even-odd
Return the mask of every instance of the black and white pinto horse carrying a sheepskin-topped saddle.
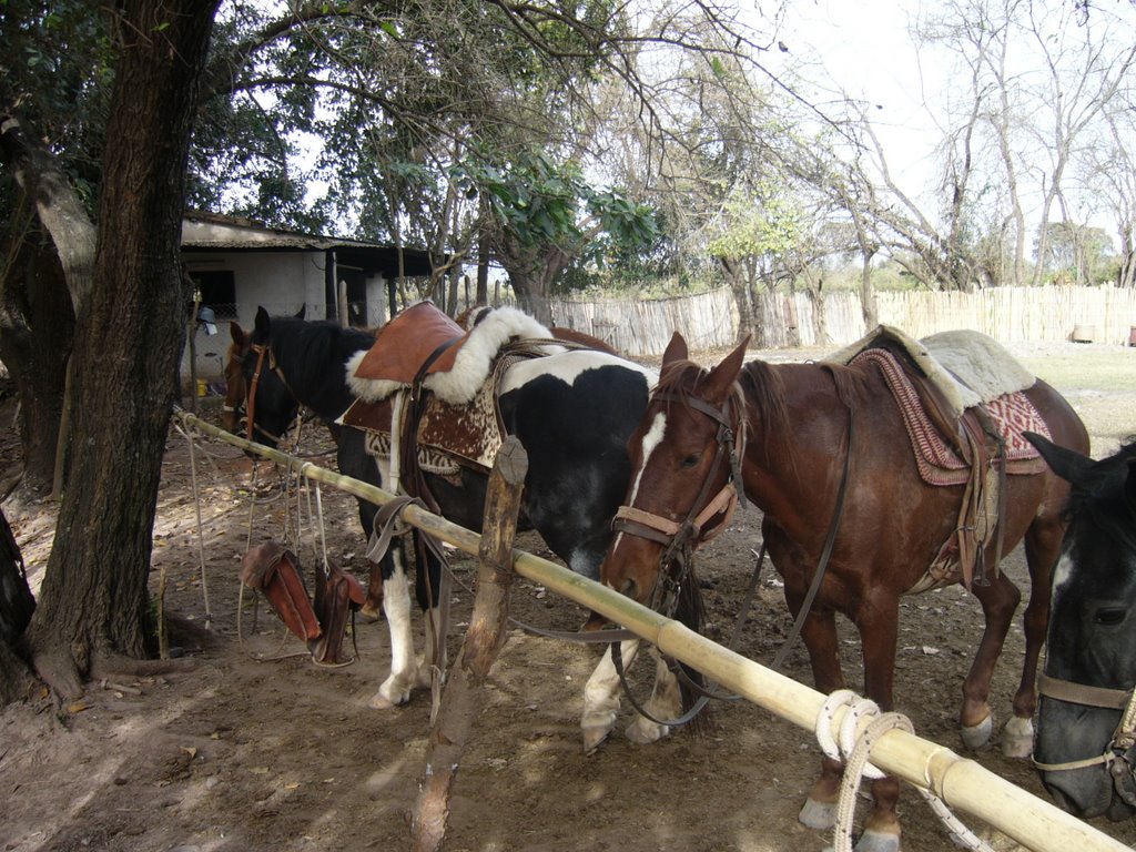
[[[549, 331], [532, 317], [499, 308], [470, 332], [448, 382], [484, 370], [466, 369], [475, 360], [488, 361], [510, 339], [549, 339]], [[332, 321], [269, 317], [260, 308], [241, 358], [248, 387], [250, 434], [275, 445], [294, 420], [299, 406], [334, 424], [357, 399], [360, 383], [354, 371], [375, 343], [371, 334]], [[548, 346], [550, 354], [508, 367], [500, 385], [499, 410], [507, 435], [515, 435], [528, 453], [528, 474], [521, 502], [521, 523], [535, 529], [548, 546], [574, 571], [599, 578], [600, 562], [611, 540], [611, 518], [627, 490], [627, 438], [646, 406], [655, 374], [637, 364], [595, 350]], [[462, 359], [466, 359], [465, 361]], [[390, 461], [368, 454], [365, 432], [340, 427], [340, 473], [384, 486]], [[441, 513], [456, 524], [481, 529], [487, 476], [462, 466], [460, 484], [424, 471]], [[360, 500], [359, 516], [370, 534], [377, 507]], [[417, 571], [417, 601], [424, 612], [425, 654], [418, 659], [410, 627], [410, 596], [406, 554], [392, 548], [383, 558], [383, 612], [391, 630], [391, 674], [371, 705], [383, 709], [404, 703], [411, 691], [428, 687], [436, 649], [434, 625], [440, 568], [428, 558], [428, 570]], [[630, 649], [630, 645], [628, 645]], [[629, 650], [628, 650], [629, 653]], [[683, 696], [674, 675], [657, 665], [657, 684], [644, 709], [654, 719], [671, 719], [682, 711]], [[604, 653], [585, 687], [580, 718], [584, 745], [592, 750], [615, 725], [619, 708], [619, 676]], [[636, 715], [627, 729], [635, 742], [653, 742], [668, 728]]]

